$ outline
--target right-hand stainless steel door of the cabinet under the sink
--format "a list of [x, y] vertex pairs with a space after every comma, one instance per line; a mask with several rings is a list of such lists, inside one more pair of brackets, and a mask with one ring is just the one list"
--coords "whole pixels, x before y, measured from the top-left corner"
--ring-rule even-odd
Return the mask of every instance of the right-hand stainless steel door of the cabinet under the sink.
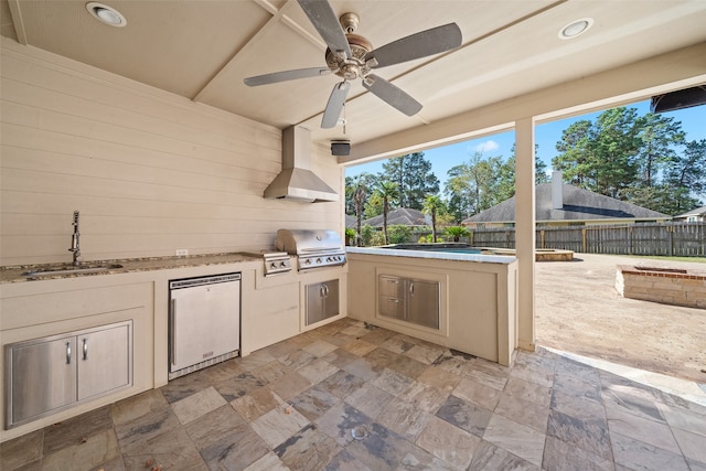
[[78, 335], [78, 400], [131, 383], [131, 342], [128, 324]]

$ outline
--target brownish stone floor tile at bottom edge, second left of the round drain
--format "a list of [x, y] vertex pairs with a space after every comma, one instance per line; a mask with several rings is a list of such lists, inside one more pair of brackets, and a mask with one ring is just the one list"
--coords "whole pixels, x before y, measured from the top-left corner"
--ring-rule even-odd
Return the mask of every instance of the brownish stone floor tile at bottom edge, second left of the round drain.
[[233, 429], [200, 451], [211, 470], [242, 470], [250, 465], [258, 469], [255, 463], [271, 452], [263, 438], [247, 424]]

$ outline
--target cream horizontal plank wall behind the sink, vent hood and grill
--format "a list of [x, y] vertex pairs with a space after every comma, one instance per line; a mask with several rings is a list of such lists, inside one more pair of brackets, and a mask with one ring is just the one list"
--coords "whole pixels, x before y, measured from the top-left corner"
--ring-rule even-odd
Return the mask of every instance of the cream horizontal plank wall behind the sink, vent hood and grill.
[[[266, 200], [280, 130], [2, 38], [0, 265], [268, 248], [342, 203]], [[342, 169], [314, 146], [314, 172]]]

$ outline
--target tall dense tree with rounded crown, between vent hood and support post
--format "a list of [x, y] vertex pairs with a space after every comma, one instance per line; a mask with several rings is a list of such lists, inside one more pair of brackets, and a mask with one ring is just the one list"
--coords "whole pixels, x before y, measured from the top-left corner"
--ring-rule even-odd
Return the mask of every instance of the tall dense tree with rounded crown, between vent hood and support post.
[[395, 207], [421, 210], [427, 194], [439, 192], [439, 179], [431, 172], [431, 162], [424, 152], [408, 153], [383, 163], [382, 179], [397, 183]]

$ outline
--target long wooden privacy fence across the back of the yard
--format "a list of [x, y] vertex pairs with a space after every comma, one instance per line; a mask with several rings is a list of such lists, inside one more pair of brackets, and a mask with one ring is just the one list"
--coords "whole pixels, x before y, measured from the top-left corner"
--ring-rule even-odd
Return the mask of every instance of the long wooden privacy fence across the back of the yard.
[[[537, 248], [584, 254], [664, 255], [706, 257], [706, 223], [655, 223], [606, 226], [537, 227]], [[477, 228], [477, 247], [515, 247], [515, 229]]]

